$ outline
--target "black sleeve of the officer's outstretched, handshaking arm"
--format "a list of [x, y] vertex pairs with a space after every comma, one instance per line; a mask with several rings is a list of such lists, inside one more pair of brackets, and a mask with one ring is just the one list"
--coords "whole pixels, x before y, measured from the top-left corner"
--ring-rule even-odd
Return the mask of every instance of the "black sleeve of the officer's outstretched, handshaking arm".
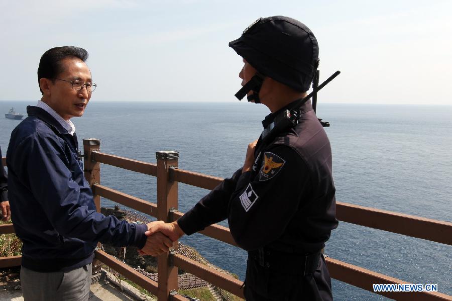
[[231, 178], [224, 179], [177, 220], [177, 224], [185, 234], [191, 235], [228, 217], [229, 200], [236, 190], [237, 180], [241, 174], [242, 168], [237, 170]]

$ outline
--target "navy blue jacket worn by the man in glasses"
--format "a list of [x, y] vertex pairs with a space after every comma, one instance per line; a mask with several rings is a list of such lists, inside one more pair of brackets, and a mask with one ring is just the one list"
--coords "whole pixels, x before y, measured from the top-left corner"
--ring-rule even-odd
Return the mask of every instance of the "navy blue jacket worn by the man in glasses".
[[98, 241], [142, 248], [146, 225], [96, 212], [77, 136], [41, 108], [29, 106], [27, 113], [7, 152], [11, 216], [24, 243], [22, 265], [40, 272], [72, 270], [92, 262]]

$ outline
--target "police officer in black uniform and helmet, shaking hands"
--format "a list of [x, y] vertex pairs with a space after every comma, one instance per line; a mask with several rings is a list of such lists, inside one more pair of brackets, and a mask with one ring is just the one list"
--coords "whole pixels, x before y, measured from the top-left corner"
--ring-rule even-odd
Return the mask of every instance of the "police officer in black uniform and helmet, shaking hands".
[[175, 240], [228, 218], [249, 255], [247, 300], [332, 300], [321, 254], [337, 227], [330, 144], [310, 101], [291, 111], [293, 126], [277, 126], [306, 96], [318, 65], [317, 40], [299, 21], [275, 16], [257, 20], [229, 46], [244, 62], [236, 96], [271, 111], [262, 122], [266, 134], [248, 146], [232, 178], [149, 234], [162, 231]]

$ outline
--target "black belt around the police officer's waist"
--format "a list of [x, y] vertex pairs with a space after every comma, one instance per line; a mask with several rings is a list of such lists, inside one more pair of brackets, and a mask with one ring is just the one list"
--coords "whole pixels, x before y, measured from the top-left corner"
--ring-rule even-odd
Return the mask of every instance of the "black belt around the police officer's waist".
[[265, 249], [248, 251], [248, 257], [261, 267], [283, 272], [290, 271], [291, 268], [296, 271], [304, 270], [304, 275], [312, 274], [317, 269], [321, 255], [321, 251], [307, 255]]

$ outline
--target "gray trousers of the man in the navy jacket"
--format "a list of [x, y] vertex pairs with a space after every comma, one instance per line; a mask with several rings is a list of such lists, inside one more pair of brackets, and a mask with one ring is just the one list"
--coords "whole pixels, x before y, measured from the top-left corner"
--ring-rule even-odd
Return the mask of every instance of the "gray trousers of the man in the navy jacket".
[[25, 301], [86, 301], [91, 285], [91, 264], [67, 272], [42, 273], [21, 267]]

